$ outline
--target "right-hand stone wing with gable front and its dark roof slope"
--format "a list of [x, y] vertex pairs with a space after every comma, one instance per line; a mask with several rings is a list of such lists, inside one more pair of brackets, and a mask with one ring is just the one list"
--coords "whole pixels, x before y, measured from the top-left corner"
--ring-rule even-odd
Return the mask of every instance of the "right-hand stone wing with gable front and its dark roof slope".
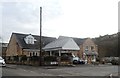
[[74, 53], [75, 56], [80, 57], [87, 63], [96, 62], [98, 57], [98, 46], [91, 38], [73, 38], [74, 41], [79, 46], [80, 50]]

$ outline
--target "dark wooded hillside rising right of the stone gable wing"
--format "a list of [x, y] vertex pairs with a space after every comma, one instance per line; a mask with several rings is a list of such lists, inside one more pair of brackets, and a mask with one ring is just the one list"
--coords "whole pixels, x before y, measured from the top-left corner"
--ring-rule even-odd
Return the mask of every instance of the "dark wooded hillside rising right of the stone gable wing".
[[119, 33], [93, 39], [98, 45], [99, 57], [118, 56], [118, 35]]

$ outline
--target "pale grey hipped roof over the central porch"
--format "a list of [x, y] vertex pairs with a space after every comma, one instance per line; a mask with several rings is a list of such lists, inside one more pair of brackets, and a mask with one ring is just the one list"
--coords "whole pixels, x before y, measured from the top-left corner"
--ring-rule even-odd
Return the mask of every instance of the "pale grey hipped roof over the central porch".
[[43, 49], [79, 50], [79, 46], [72, 38], [60, 36], [57, 40], [47, 44]]

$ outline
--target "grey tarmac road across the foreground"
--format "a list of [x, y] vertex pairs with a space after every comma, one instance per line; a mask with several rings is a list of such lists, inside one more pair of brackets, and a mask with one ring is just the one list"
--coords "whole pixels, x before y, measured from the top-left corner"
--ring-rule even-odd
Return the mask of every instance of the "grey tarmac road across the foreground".
[[[118, 66], [115, 65], [78, 65], [75, 67], [59, 67], [59, 66], [25, 66], [25, 65], [7, 65], [2, 68], [3, 77], [28, 77], [28, 78], [44, 78], [44, 77], [80, 77], [80, 78], [97, 78], [108, 77], [109, 75], [118, 76]], [[113, 78], [113, 77], [112, 77]]]

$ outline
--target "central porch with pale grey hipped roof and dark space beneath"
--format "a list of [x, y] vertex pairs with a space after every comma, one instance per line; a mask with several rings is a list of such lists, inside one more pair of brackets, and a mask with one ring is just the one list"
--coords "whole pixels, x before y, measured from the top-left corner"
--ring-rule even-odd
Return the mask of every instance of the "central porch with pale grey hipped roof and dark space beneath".
[[[58, 38], [47, 44], [43, 50], [47, 56], [56, 56], [58, 65], [72, 64], [72, 53], [80, 50], [72, 38]], [[46, 55], [46, 54], [45, 54]]]

